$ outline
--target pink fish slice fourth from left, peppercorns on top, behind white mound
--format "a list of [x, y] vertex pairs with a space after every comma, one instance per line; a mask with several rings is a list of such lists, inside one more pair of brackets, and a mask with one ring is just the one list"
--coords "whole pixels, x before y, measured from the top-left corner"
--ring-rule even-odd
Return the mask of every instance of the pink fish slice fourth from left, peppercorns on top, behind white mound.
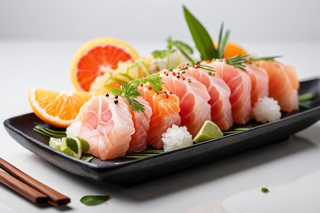
[[194, 137], [206, 120], [211, 120], [210, 96], [202, 83], [195, 78], [182, 74], [180, 69], [159, 72], [164, 87], [180, 100], [181, 126], [186, 126]]

